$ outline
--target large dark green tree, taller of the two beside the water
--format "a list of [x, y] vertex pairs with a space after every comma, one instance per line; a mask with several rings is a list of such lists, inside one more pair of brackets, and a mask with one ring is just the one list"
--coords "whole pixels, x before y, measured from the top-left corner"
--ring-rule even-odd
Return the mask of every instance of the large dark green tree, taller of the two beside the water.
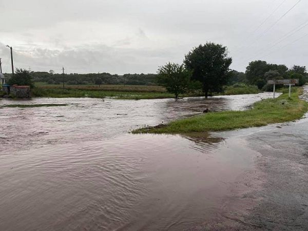
[[192, 49], [185, 55], [184, 64], [192, 71], [192, 80], [202, 83], [202, 91], [207, 98], [209, 91], [221, 91], [227, 83], [232, 58], [227, 48], [215, 43], [206, 43]]

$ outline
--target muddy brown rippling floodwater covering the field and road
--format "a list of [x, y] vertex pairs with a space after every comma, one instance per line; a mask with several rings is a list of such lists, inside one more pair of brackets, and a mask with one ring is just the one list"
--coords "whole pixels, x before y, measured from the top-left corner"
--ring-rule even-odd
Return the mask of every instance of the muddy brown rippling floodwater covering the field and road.
[[2, 100], [68, 106], [0, 108], [0, 230], [181, 230], [220, 216], [253, 168], [244, 139], [128, 132], [271, 96]]

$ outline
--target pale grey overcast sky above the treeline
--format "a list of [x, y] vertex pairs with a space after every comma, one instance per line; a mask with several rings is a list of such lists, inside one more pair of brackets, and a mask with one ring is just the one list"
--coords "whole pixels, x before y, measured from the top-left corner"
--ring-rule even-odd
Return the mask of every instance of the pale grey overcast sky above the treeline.
[[0, 0], [3, 72], [156, 73], [194, 47], [249, 62], [308, 66], [306, 0]]

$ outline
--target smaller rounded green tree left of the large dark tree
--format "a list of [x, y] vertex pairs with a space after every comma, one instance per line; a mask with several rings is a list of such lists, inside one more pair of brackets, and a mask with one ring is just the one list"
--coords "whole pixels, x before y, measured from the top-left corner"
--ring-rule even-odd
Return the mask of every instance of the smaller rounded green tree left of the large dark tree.
[[174, 93], [176, 99], [178, 99], [179, 94], [186, 92], [191, 72], [185, 69], [183, 64], [169, 62], [165, 66], [159, 67], [157, 73], [158, 83], [166, 87], [168, 92]]

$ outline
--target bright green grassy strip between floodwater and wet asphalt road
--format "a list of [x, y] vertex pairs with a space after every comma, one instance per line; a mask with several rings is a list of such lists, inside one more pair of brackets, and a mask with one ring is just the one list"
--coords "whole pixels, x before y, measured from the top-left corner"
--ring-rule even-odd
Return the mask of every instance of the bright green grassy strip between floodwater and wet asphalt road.
[[132, 133], [221, 131], [293, 121], [302, 118], [308, 109], [308, 103], [298, 98], [301, 91], [292, 93], [290, 99], [288, 94], [284, 93], [277, 99], [259, 101], [253, 105], [252, 109], [246, 111], [210, 112], [176, 120], [166, 126], [140, 128]]

